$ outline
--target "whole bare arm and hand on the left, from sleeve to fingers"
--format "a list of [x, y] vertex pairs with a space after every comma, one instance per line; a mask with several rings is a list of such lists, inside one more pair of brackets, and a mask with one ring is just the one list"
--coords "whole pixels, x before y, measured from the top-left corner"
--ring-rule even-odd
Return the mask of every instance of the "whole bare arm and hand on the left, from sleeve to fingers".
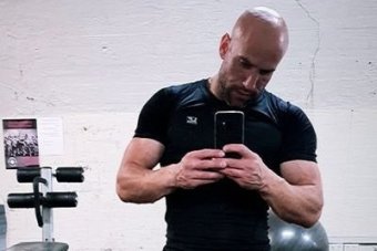
[[180, 163], [153, 169], [164, 146], [150, 138], [133, 138], [125, 149], [116, 176], [116, 194], [125, 202], [154, 202], [176, 188], [192, 189], [220, 180], [224, 153], [202, 149], [187, 153]]

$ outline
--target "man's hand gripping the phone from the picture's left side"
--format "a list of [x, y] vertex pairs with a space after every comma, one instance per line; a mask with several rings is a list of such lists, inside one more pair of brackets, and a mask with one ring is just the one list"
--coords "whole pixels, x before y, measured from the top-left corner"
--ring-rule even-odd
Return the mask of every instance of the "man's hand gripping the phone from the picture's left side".
[[224, 178], [221, 172], [226, 167], [224, 156], [224, 151], [218, 149], [202, 149], [186, 154], [177, 164], [176, 187], [193, 189]]

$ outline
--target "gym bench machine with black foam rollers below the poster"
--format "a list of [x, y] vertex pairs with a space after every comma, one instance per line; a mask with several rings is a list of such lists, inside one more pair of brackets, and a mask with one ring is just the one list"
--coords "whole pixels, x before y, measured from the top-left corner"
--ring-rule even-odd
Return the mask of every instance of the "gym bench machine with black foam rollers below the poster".
[[21, 242], [8, 251], [67, 251], [69, 245], [55, 242], [53, 238], [52, 208], [73, 208], [78, 205], [78, 195], [72, 191], [52, 191], [52, 178], [58, 182], [83, 182], [82, 167], [58, 167], [55, 172], [51, 167], [19, 168], [17, 180], [32, 182], [33, 192], [9, 194], [9, 208], [34, 208], [38, 226], [42, 228], [41, 242]]

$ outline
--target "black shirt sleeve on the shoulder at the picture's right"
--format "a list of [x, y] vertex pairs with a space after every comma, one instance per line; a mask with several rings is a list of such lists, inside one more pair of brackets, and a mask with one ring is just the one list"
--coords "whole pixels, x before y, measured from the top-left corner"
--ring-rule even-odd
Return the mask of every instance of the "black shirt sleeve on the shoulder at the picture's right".
[[288, 103], [283, 124], [281, 163], [295, 159], [317, 161], [317, 137], [305, 113], [297, 106]]

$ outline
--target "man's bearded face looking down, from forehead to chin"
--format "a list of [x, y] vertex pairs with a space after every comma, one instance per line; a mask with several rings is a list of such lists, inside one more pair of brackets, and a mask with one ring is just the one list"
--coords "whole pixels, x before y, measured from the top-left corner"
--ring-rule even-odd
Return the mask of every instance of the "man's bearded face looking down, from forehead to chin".
[[[284, 53], [276, 41], [254, 36], [230, 38], [221, 43], [223, 63], [218, 72], [217, 93], [228, 105], [243, 107], [256, 100], [268, 84]], [[223, 51], [222, 51], [223, 50]]]

